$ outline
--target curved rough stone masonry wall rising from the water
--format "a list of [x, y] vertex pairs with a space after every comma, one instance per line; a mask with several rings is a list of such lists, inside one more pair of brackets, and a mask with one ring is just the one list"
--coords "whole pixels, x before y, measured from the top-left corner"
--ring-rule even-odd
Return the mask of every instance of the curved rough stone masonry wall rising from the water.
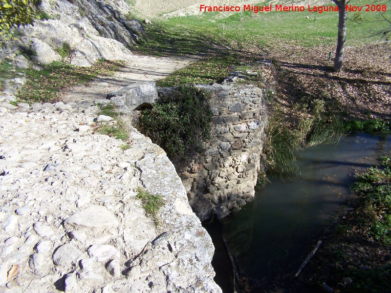
[[212, 138], [200, 164], [182, 174], [191, 207], [201, 221], [227, 216], [254, 198], [267, 124], [260, 88], [249, 85], [198, 85], [211, 92]]

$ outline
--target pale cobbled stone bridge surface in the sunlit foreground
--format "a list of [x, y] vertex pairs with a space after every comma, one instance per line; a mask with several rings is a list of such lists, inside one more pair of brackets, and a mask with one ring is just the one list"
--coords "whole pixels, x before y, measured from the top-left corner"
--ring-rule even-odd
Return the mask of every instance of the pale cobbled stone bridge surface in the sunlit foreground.
[[[0, 291], [220, 293], [211, 238], [165, 152], [131, 126], [126, 150], [93, 134], [97, 112], [59, 102], [0, 115]], [[159, 226], [138, 188], [164, 198]]]

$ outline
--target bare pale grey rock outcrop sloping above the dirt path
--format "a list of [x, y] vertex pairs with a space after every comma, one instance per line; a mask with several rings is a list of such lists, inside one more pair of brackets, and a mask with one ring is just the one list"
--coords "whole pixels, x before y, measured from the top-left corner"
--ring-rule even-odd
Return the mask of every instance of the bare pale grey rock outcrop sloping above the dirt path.
[[144, 33], [139, 21], [127, 20], [130, 8], [124, 0], [43, 0], [39, 9], [49, 19], [18, 28], [22, 48], [33, 52], [39, 63], [60, 60], [55, 51], [64, 44], [70, 47], [74, 65], [125, 60], [131, 55], [126, 46], [139, 42]]

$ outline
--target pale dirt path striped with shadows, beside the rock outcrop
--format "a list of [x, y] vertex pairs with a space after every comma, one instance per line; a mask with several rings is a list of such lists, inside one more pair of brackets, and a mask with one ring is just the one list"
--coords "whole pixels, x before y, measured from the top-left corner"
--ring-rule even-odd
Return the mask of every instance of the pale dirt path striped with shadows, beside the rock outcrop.
[[69, 103], [105, 99], [109, 92], [140, 81], [157, 81], [196, 60], [197, 57], [130, 56], [126, 65], [114, 75], [98, 77], [87, 85], [68, 88], [61, 94], [61, 101]]

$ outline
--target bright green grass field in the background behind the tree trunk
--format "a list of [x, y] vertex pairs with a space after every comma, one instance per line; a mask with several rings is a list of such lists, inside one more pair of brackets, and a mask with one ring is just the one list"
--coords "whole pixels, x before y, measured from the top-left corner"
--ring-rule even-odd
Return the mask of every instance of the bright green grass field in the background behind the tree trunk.
[[[263, 2], [258, 5], [267, 4], [268, 2]], [[353, 0], [349, 4], [363, 5], [365, 9], [365, 4], [381, 5], [387, 4], [387, 1], [369, 3], [365, 0]], [[274, 4], [272, 6], [274, 9]], [[304, 12], [204, 12], [199, 16], [156, 19], [152, 25], [146, 25], [146, 42], [134, 49], [159, 56], [207, 56], [216, 51], [227, 52], [228, 48], [235, 48], [236, 51], [267, 51], [283, 43], [304, 46], [336, 44], [338, 12], [311, 13], [307, 11], [307, 5], [304, 7]], [[384, 14], [389, 19], [390, 11], [391, 9], [388, 9]], [[348, 18], [353, 17], [354, 13], [349, 12]], [[348, 21], [348, 45], [375, 42], [378, 36], [370, 37], [371, 34], [375, 31], [382, 32], [389, 27], [386, 21], [375, 21], [379, 20], [378, 13], [363, 12], [361, 17], [372, 22]], [[241, 21], [242, 18], [245, 20]]]

